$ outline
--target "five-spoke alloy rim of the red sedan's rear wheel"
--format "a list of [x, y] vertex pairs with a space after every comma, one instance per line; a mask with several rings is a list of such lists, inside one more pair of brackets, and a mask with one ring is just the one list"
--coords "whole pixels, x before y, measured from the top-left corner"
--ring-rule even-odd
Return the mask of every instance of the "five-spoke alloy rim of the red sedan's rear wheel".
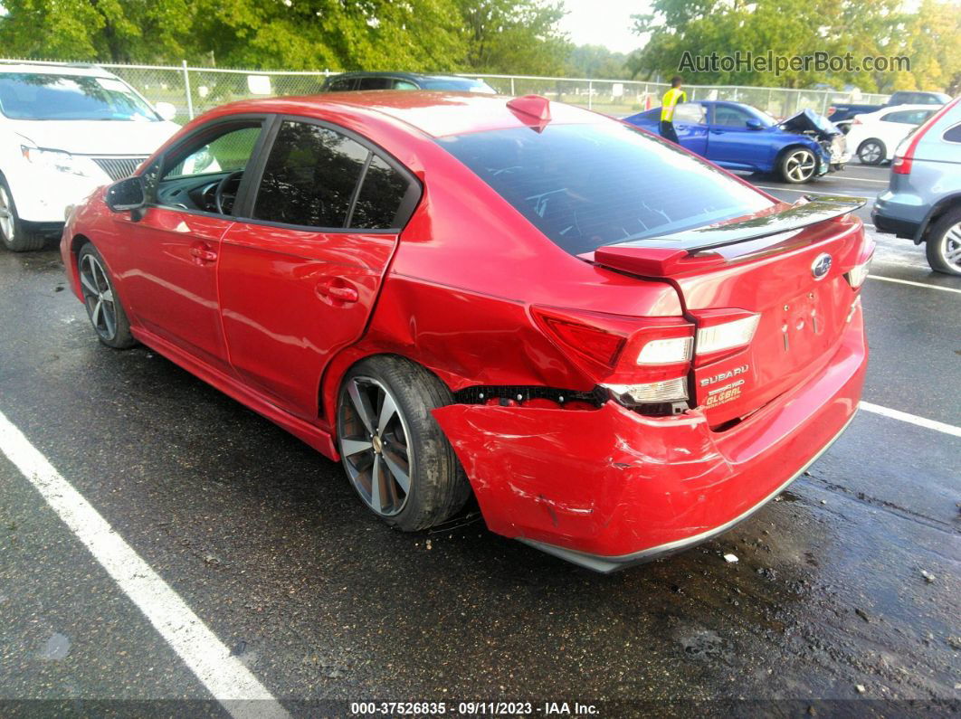
[[396, 398], [380, 380], [351, 377], [337, 419], [340, 456], [354, 489], [376, 514], [399, 514], [410, 494], [414, 458]]

